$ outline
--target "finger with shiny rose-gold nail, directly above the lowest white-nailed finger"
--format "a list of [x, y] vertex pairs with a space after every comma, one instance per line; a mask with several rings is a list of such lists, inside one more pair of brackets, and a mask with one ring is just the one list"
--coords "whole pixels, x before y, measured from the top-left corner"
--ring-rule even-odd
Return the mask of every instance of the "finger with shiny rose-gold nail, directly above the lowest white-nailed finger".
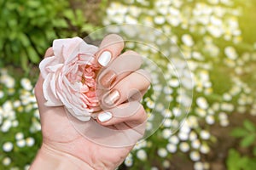
[[148, 89], [150, 77], [146, 71], [138, 70], [118, 82], [109, 92], [102, 95], [102, 109], [117, 106], [135, 94]]

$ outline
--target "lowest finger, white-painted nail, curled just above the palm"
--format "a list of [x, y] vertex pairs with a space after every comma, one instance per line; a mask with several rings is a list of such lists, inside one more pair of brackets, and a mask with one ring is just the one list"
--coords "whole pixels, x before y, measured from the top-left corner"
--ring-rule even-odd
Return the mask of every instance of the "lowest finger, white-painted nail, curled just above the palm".
[[102, 111], [96, 118], [103, 126], [110, 126], [125, 122], [127, 127], [136, 127], [147, 120], [143, 105], [138, 101], [121, 104], [118, 107]]

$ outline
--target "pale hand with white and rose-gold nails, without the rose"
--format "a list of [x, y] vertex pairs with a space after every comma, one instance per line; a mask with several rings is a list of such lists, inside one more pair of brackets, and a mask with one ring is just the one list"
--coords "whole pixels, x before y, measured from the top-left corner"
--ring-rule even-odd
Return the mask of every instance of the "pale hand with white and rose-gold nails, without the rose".
[[[150, 85], [149, 77], [139, 69], [142, 65], [139, 54], [133, 51], [120, 54], [123, 48], [121, 37], [109, 35], [96, 53], [102, 65], [97, 79], [102, 111], [95, 113], [96, 120], [80, 122], [68, 116], [63, 106], [45, 106], [44, 79], [38, 78], [35, 94], [43, 144], [32, 169], [115, 169], [143, 137], [147, 115], [139, 101]], [[52, 55], [49, 48], [45, 57]], [[90, 131], [80, 133], [84, 127]]]

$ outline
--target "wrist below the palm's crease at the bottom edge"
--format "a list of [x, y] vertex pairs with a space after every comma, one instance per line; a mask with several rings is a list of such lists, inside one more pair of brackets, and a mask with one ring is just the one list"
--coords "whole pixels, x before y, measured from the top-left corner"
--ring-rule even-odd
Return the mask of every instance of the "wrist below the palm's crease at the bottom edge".
[[32, 162], [31, 170], [44, 170], [44, 169], [88, 169], [93, 170], [86, 162], [80, 160], [76, 156], [60, 150], [55, 150], [47, 144], [42, 144], [38, 155]]

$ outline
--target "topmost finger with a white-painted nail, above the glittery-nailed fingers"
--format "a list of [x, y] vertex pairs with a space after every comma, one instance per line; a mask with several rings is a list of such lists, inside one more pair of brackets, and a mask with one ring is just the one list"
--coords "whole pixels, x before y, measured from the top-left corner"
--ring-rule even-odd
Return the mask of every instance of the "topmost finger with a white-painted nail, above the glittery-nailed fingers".
[[124, 40], [116, 34], [110, 34], [104, 37], [99, 51], [96, 53], [96, 59], [102, 66], [107, 66], [114, 58], [119, 56], [124, 48]]

